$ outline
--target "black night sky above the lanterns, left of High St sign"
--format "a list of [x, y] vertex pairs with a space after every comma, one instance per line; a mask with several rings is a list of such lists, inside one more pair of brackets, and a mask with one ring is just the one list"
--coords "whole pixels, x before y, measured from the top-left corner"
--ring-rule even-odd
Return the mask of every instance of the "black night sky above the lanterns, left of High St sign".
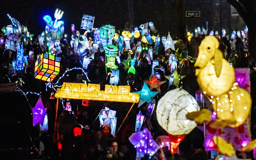
[[[9, 13], [21, 25], [28, 27], [31, 34], [41, 34], [45, 29], [43, 16], [48, 14], [54, 18], [56, 8], [64, 11], [65, 32], [71, 33], [71, 24], [79, 30], [83, 14], [95, 16], [94, 27], [107, 23], [123, 29], [128, 21], [127, 0], [2, 0], [1, 28], [11, 24], [6, 16]], [[175, 3], [172, 0], [133, 0], [134, 25], [152, 21], [160, 33], [176, 32]]]

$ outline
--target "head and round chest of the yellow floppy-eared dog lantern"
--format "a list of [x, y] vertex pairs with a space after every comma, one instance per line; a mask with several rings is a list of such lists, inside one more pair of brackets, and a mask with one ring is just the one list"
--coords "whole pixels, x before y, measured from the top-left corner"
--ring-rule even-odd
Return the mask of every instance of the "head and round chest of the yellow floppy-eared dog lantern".
[[230, 90], [234, 81], [234, 68], [223, 58], [215, 36], [206, 36], [199, 46], [195, 62], [197, 82], [204, 94], [220, 96]]

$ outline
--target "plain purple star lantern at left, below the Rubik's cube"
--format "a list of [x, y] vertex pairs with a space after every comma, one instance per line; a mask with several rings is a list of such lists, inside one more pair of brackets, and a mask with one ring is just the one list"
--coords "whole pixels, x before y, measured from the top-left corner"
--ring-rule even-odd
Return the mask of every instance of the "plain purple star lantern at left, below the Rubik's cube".
[[38, 101], [36, 102], [36, 106], [32, 108], [33, 126], [35, 126], [37, 123], [40, 123], [41, 125], [44, 124], [44, 116], [46, 114], [46, 109], [47, 108], [44, 108], [41, 97], [39, 97]]

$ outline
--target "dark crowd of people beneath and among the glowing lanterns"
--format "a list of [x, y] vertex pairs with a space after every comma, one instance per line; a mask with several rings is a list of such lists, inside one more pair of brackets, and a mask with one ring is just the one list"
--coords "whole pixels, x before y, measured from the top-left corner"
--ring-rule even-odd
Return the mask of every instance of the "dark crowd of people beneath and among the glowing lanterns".
[[[3, 34], [0, 37], [4, 37]], [[160, 91], [155, 97], [157, 101], [169, 90], [182, 87], [188, 91], [192, 96], [195, 96], [195, 92], [199, 90], [199, 86], [196, 82], [194, 62], [198, 55], [198, 46], [203, 40], [204, 36], [193, 37], [190, 42], [178, 40], [174, 44], [175, 50], [168, 49], [164, 51], [163, 44], [160, 44], [159, 50], [156, 53], [153, 48], [153, 59], [148, 61], [146, 54], [147, 50], [137, 52], [136, 40], [131, 43], [132, 51], [124, 51], [118, 53], [121, 62], [118, 63], [116, 59], [116, 65], [119, 69], [119, 82], [118, 85], [130, 85], [131, 92], [140, 91], [142, 89], [143, 82], [152, 77], [152, 62], [158, 60], [159, 65], [155, 66], [154, 72], [160, 74], [160, 81], [166, 81], [167, 83], [160, 86]], [[220, 47], [219, 49], [223, 53], [223, 57], [234, 68], [251, 68], [253, 72], [256, 69], [255, 62], [250, 56], [247, 48], [246, 38], [236, 37], [230, 39], [230, 37], [219, 37]], [[114, 45], [115, 41], [113, 41]], [[147, 45], [147, 44], [146, 44]], [[111, 134], [111, 128], [109, 125], [103, 125], [100, 127], [100, 121], [98, 114], [103, 107], [113, 108], [117, 111], [117, 127], [120, 126], [124, 120], [124, 116], [129, 110], [129, 104], [124, 103], [105, 103], [99, 101], [90, 101], [88, 107], [82, 105], [81, 100], [62, 100], [59, 106], [65, 106], [66, 102], [70, 102], [72, 111], [64, 110], [62, 107], [58, 108], [58, 119], [55, 122], [55, 105], [56, 100], [51, 97], [51, 89], [45, 91], [45, 82], [34, 78], [34, 68], [37, 56], [42, 54], [42, 49], [38, 44], [38, 39], [34, 38], [32, 41], [28, 41], [24, 46], [24, 54], [28, 55], [28, 64], [23, 71], [15, 71], [12, 66], [12, 61], [16, 59], [16, 52], [5, 49], [0, 46], [0, 83], [16, 82], [22, 84], [24, 92], [42, 92], [41, 96], [48, 113], [48, 132], [41, 134], [41, 141], [44, 145], [42, 154], [45, 157], [51, 159], [63, 159], [63, 160], [117, 160], [117, 159], [135, 159], [136, 149], [129, 142], [129, 136], [134, 132], [136, 114], [141, 110], [142, 114], [146, 113], [146, 104], [132, 110], [128, 118], [126, 119], [124, 126], [121, 128], [119, 134], [114, 137]], [[65, 38], [61, 39], [62, 53], [58, 54], [61, 58], [60, 61], [60, 73], [53, 80], [53, 84], [61, 86], [63, 82], [71, 83], [92, 83], [100, 84], [104, 87], [105, 84], [109, 84], [110, 69], [106, 69], [105, 52], [98, 50], [95, 53], [91, 53], [89, 50], [85, 50], [83, 53], [76, 52], [74, 48], [71, 48]], [[33, 51], [29, 55], [29, 51]], [[172, 71], [169, 67], [170, 54], [175, 55], [175, 59], [178, 59], [177, 71], [181, 76], [185, 76], [180, 80], [178, 85], [170, 85], [169, 80], [165, 76], [171, 75]], [[92, 58], [92, 55], [94, 58]], [[91, 62], [88, 67], [83, 68], [83, 57], [90, 57]], [[128, 73], [130, 62], [127, 60], [135, 61], [135, 74]], [[163, 69], [164, 68], [164, 69]], [[84, 74], [85, 73], [85, 74]], [[58, 81], [58, 79], [64, 74], [64, 76]], [[49, 87], [48, 87], [49, 88]], [[153, 89], [155, 90], [155, 89]], [[28, 96], [29, 97], [29, 96]], [[50, 99], [50, 97], [52, 99]], [[33, 101], [33, 100], [32, 100]], [[62, 103], [62, 104], [61, 104]], [[94, 121], [95, 120], [95, 121]], [[56, 131], [58, 141], [54, 141], [54, 123], [56, 123]], [[167, 135], [157, 123], [156, 113], [153, 112], [152, 118], [146, 118], [142, 128], [147, 127], [156, 139], [157, 136]], [[54, 137], [54, 138], [53, 138]], [[38, 146], [38, 148], [40, 148]], [[141, 159], [147, 159], [145, 156]], [[204, 134], [199, 129], [194, 129], [187, 137], [181, 142], [179, 154], [172, 154], [168, 148], [159, 150], [152, 159], [177, 159], [177, 160], [206, 160], [209, 159], [207, 152], [204, 150]]]

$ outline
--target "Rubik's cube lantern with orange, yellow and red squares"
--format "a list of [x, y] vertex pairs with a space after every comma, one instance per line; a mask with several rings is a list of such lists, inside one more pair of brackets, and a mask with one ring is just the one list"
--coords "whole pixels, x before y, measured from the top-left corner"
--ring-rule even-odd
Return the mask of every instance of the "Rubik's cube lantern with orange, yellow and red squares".
[[43, 53], [35, 63], [35, 78], [51, 82], [60, 72], [60, 57]]

